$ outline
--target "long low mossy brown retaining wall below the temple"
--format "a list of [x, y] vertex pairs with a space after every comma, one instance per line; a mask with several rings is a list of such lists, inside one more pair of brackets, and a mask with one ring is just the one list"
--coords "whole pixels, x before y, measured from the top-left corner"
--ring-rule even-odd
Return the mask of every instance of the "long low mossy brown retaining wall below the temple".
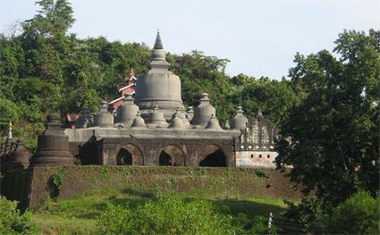
[[[70, 198], [89, 190], [174, 190], [184, 192], [212, 191], [221, 197], [229, 192], [242, 197], [299, 198], [282, 172], [265, 170], [267, 177], [258, 176], [255, 169], [220, 167], [141, 167], [141, 166], [38, 166], [5, 175], [1, 193], [21, 201], [21, 206], [37, 206], [53, 196], [51, 177], [63, 176], [58, 198]], [[56, 195], [55, 195], [56, 196]]]

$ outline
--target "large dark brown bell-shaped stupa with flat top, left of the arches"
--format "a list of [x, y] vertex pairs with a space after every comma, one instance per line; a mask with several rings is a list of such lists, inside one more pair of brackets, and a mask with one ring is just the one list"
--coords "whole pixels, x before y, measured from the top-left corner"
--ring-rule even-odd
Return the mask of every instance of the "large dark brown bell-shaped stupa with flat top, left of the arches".
[[69, 151], [69, 137], [61, 129], [59, 114], [48, 114], [46, 130], [38, 136], [37, 154], [31, 165], [70, 165], [74, 163]]

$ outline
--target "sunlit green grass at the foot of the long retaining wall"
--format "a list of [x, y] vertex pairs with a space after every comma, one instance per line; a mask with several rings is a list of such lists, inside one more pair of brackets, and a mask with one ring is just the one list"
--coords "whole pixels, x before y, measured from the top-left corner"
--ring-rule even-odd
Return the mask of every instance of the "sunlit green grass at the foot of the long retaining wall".
[[[32, 220], [38, 224], [45, 234], [90, 234], [96, 229], [97, 216], [102, 214], [108, 204], [129, 205], [132, 208], [143, 204], [148, 199], [162, 193], [160, 190], [136, 189], [103, 189], [88, 191], [72, 199], [48, 200], [33, 210]], [[210, 200], [215, 206], [228, 206], [227, 214], [247, 214], [249, 218], [257, 215], [267, 216], [270, 212], [280, 214], [285, 205], [282, 199], [264, 197], [221, 197], [203, 194], [182, 193], [182, 197], [190, 200], [203, 198]]]

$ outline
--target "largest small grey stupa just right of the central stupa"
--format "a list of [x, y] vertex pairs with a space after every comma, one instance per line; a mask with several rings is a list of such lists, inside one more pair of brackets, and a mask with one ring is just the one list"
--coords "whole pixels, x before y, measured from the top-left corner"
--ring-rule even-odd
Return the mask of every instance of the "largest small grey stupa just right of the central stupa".
[[194, 110], [194, 118], [191, 120], [191, 124], [206, 126], [213, 114], [215, 115], [215, 107], [210, 104], [208, 94], [203, 93], [200, 104]]

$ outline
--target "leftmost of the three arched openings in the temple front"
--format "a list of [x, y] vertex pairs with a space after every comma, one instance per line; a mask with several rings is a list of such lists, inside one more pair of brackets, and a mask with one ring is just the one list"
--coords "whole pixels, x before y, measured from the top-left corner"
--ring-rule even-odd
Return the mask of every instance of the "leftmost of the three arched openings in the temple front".
[[123, 145], [116, 156], [118, 165], [142, 165], [144, 156], [139, 147], [133, 144]]

